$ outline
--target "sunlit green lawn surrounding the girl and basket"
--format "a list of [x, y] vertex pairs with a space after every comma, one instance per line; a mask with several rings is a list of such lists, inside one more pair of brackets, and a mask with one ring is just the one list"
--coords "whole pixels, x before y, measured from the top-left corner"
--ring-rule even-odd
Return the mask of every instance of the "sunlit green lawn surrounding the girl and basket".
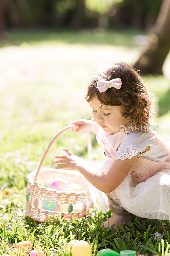
[[[169, 221], [136, 217], [122, 228], [101, 228], [112, 213], [95, 207], [83, 219], [68, 224], [39, 224], [25, 216], [27, 175], [38, 167], [51, 138], [78, 118], [91, 118], [84, 100], [87, 84], [98, 68], [112, 61], [133, 64], [141, 45], [135, 44], [140, 31], [9, 31], [0, 43], [0, 255], [16, 255], [16, 242], [29, 240], [46, 255], [67, 256], [65, 244], [86, 240], [95, 256], [109, 247], [117, 252], [135, 250], [140, 254], [164, 256], [170, 247]], [[170, 138], [170, 89], [168, 56], [165, 76], [143, 76], [149, 90], [157, 95], [158, 133]], [[92, 157], [103, 159], [103, 150], [92, 139]], [[86, 137], [67, 131], [54, 143], [44, 166], [55, 167], [54, 155], [68, 148], [87, 158]], [[162, 241], [154, 239], [159, 232]], [[167, 247], [169, 246], [169, 247]], [[166, 249], [167, 248], [167, 249]], [[166, 255], [166, 254], [165, 254]]]

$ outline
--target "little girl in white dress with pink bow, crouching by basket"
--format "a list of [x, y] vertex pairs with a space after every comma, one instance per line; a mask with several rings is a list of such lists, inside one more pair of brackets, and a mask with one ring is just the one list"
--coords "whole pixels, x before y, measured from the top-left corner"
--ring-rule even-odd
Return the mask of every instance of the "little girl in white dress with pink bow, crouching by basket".
[[157, 113], [152, 97], [128, 64], [101, 68], [85, 97], [93, 121], [73, 124], [79, 125], [75, 133], [97, 134], [106, 159], [93, 167], [65, 148], [68, 156], [55, 156], [62, 160], [54, 163], [63, 164], [56, 169], [78, 170], [98, 189], [103, 208], [114, 212], [105, 227], [119, 227], [136, 216], [170, 221], [170, 142], [151, 129], [149, 118]]

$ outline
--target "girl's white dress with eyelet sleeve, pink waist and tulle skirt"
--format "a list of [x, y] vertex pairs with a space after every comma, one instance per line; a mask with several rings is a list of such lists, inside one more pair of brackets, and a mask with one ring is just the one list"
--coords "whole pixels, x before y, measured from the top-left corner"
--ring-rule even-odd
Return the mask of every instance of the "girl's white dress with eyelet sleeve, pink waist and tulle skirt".
[[[154, 131], [128, 134], [120, 131], [110, 135], [101, 127], [96, 139], [105, 148], [106, 158], [95, 165], [101, 172], [107, 172], [116, 159], [141, 153], [122, 183], [107, 195], [136, 216], [170, 221], [170, 140]], [[144, 152], [148, 146], [150, 149]], [[93, 200], [97, 197], [107, 211], [107, 196], [93, 187], [94, 191]]]

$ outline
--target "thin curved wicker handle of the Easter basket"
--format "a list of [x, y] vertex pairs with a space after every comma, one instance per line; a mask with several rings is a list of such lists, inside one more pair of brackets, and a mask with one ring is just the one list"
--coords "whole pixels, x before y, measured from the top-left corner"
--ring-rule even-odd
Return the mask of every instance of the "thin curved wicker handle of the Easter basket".
[[[59, 132], [57, 132], [55, 134], [55, 136], [52, 138], [52, 140], [50, 141], [50, 143], [48, 144], [48, 147], [46, 148], [46, 151], [41, 159], [41, 162], [40, 162], [40, 165], [38, 167], [38, 170], [37, 170], [37, 173], [36, 173], [36, 176], [35, 176], [35, 179], [34, 179], [34, 185], [37, 185], [38, 184], [38, 178], [39, 178], [39, 175], [40, 175], [40, 171], [41, 171], [41, 167], [43, 166], [44, 164], [44, 161], [48, 155], [48, 152], [51, 148], [51, 146], [53, 145], [53, 143], [55, 142], [55, 140], [65, 131], [69, 130], [69, 129], [72, 129], [72, 128], [78, 128], [79, 125], [75, 125], [75, 124], [71, 124], [71, 125], [68, 125], [68, 126], [65, 126], [63, 129], [61, 129]], [[90, 163], [92, 161], [92, 142], [91, 142], [91, 138], [90, 138], [90, 134], [88, 132], [86, 132], [86, 137], [87, 137], [87, 152], [88, 152], [88, 162]]]

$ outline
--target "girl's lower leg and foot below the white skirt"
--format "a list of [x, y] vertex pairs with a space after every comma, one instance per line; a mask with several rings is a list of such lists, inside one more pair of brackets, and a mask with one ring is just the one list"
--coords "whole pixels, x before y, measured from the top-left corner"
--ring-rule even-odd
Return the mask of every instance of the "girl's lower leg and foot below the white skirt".
[[[106, 194], [107, 195], [107, 194]], [[110, 196], [108, 196], [109, 208], [113, 211], [113, 215], [104, 222], [104, 227], [109, 228], [113, 224], [115, 226], [120, 227], [120, 223], [127, 224], [130, 221], [133, 221], [136, 215], [126, 211], [122, 206], [117, 204]]]

